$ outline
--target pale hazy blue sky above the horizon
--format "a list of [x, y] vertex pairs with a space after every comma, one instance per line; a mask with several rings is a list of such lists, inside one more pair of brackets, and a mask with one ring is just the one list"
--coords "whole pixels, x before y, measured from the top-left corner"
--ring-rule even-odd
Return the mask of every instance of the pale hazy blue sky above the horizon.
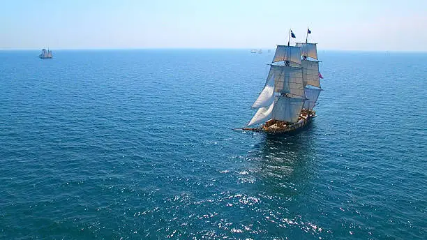
[[273, 48], [427, 51], [427, 0], [1, 1], [0, 49]]

